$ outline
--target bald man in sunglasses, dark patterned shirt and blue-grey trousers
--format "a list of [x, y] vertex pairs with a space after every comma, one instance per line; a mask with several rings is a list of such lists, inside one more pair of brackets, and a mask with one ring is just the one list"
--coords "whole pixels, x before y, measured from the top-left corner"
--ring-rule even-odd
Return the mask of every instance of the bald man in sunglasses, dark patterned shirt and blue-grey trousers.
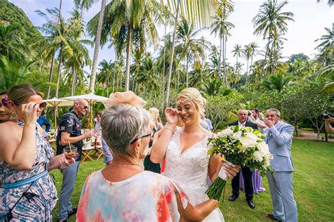
[[63, 148], [66, 148], [68, 143], [78, 149], [78, 157], [75, 158], [75, 163], [70, 165], [67, 169], [61, 169], [61, 173], [63, 174], [63, 184], [61, 185], [61, 195], [59, 197], [58, 221], [66, 221], [68, 216], [76, 213], [76, 209], [73, 209], [72, 204], [70, 203], [70, 195], [73, 192], [78, 174], [83, 145], [82, 140], [94, 136], [94, 131], [81, 134], [80, 120], [87, 110], [88, 103], [86, 100], [75, 100], [73, 110], [63, 115], [58, 125], [56, 141], [57, 155], [63, 153]]

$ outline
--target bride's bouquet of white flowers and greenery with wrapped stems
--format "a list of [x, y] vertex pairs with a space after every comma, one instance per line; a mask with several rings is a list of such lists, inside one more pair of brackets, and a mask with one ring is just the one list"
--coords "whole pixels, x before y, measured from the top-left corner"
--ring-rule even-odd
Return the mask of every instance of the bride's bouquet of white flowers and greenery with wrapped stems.
[[[216, 138], [209, 139], [208, 155], [224, 155], [226, 164], [248, 166], [251, 170], [259, 169], [261, 176], [264, 176], [266, 171], [273, 171], [270, 166], [273, 155], [264, 142], [265, 136], [259, 129], [228, 126], [217, 133]], [[227, 180], [225, 169], [222, 168], [214, 183], [206, 190], [206, 195], [219, 200]]]

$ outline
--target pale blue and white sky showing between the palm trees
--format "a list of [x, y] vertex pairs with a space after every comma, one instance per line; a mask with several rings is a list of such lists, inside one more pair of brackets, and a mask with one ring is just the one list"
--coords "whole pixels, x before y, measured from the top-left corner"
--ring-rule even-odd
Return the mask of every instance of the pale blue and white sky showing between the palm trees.
[[[11, 3], [23, 9], [27, 17], [32, 21], [35, 26], [42, 25], [45, 20], [41, 18], [36, 10], [44, 11], [45, 8], [54, 8], [59, 6], [59, 0], [9, 0]], [[279, 2], [282, 2], [278, 0]], [[292, 54], [304, 53], [310, 58], [314, 58], [317, 53], [314, 48], [318, 43], [314, 40], [319, 39], [323, 34], [326, 34], [325, 27], [332, 29], [334, 25], [334, 6], [331, 8], [327, 5], [328, 0], [321, 0], [317, 3], [316, 0], [290, 0], [288, 4], [283, 8], [283, 11], [290, 11], [294, 13], [293, 19], [295, 22], [288, 22], [288, 30], [285, 34], [285, 44], [283, 45], [283, 60], [287, 60]], [[107, 4], [110, 0], [107, 0]], [[254, 24], [252, 19], [259, 12], [259, 7], [264, 0], [235, 0], [235, 7], [233, 13], [231, 13], [228, 21], [235, 25], [235, 28], [230, 31], [232, 36], [227, 42], [227, 53], [226, 58], [228, 63], [235, 63], [235, 58], [231, 51], [235, 44], [245, 46], [246, 44], [255, 41], [260, 49], [264, 49], [266, 41], [262, 37], [254, 36]], [[63, 17], [69, 18], [69, 11], [72, 10], [74, 4], [73, 0], [63, 0], [63, 6], [61, 13]], [[85, 12], [84, 19], [88, 22], [94, 15], [100, 10], [100, 2], [94, 4], [89, 11]], [[334, 27], [333, 27], [334, 29]], [[171, 32], [171, 29], [169, 30]], [[158, 28], [159, 37], [162, 39], [164, 29], [163, 27]], [[214, 37], [209, 30], [202, 31], [197, 36], [198, 38], [204, 37], [212, 44], [219, 46], [219, 39]], [[87, 37], [89, 38], [89, 37]], [[101, 60], [113, 60], [114, 51], [113, 48], [108, 48], [108, 45], [104, 46], [99, 52], [99, 61]], [[153, 48], [149, 51], [153, 53]], [[89, 48], [90, 57], [93, 58], [94, 48]], [[261, 59], [263, 56], [257, 55], [254, 60]], [[246, 61], [242, 63], [246, 64]], [[245, 70], [245, 66], [244, 66]]]

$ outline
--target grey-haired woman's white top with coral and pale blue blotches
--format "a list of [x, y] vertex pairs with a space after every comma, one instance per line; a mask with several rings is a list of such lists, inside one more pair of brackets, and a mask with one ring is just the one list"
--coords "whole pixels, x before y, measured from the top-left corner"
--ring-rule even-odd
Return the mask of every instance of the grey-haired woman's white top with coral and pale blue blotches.
[[77, 221], [179, 221], [176, 192], [187, 207], [184, 192], [160, 174], [143, 171], [110, 182], [96, 171], [82, 188]]

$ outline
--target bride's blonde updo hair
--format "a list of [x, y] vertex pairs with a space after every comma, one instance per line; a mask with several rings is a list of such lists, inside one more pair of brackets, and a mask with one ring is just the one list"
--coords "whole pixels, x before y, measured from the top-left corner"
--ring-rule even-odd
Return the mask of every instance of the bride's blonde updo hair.
[[190, 101], [190, 103], [192, 103], [192, 105], [194, 105], [196, 110], [199, 112], [200, 117], [202, 119], [204, 118], [204, 107], [206, 105], [206, 99], [201, 95], [201, 93], [199, 93], [198, 89], [183, 89], [183, 91], [181, 91], [178, 95], [177, 105], [185, 101]]

